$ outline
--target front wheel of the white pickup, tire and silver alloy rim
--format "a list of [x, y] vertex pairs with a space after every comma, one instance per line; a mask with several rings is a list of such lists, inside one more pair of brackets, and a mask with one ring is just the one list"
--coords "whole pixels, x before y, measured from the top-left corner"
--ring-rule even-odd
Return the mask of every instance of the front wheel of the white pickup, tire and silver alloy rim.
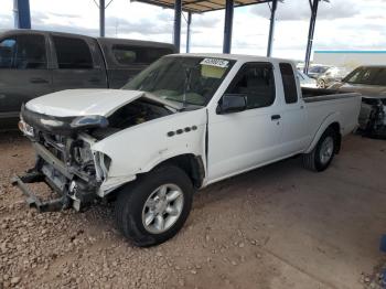
[[178, 167], [165, 165], [141, 175], [119, 192], [117, 227], [136, 246], [159, 245], [182, 228], [192, 207], [193, 192], [192, 181]]

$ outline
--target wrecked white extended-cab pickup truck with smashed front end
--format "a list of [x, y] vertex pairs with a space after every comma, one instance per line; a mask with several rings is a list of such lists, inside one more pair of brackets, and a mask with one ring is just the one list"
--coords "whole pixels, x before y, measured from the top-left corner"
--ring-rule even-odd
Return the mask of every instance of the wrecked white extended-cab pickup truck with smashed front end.
[[[323, 171], [357, 125], [358, 94], [300, 88], [290, 61], [179, 54], [121, 89], [74, 89], [22, 108], [37, 154], [13, 183], [40, 211], [116, 200], [117, 225], [138, 246], [183, 226], [197, 189], [302, 154]], [[25, 183], [46, 182], [42, 201]]]

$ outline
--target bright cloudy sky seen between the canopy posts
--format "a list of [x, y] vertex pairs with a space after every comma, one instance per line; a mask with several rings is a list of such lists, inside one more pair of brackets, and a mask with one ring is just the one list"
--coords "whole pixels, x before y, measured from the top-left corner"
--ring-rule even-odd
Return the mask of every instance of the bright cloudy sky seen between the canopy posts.
[[[98, 2], [98, 0], [96, 0]], [[0, 29], [13, 28], [13, 0], [0, 0]], [[109, 0], [106, 0], [108, 3]], [[98, 35], [94, 0], [30, 0], [33, 29]], [[193, 14], [191, 52], [222, 52], [225, 11]], [[185, 50], [186, 14], [181, 51]], [[236, 8], [232, 53], [265, 55], [270, 10], [267, 3]], [[309, 0], [278, 4], [272, 56], [303, 60], [309, 29]], [[172, 42], [173, 10], [130, 0], [112, 0], [106, 10], [106, 36]], [[385, 50], [386, 0], [321, 2], [313, 50]]]

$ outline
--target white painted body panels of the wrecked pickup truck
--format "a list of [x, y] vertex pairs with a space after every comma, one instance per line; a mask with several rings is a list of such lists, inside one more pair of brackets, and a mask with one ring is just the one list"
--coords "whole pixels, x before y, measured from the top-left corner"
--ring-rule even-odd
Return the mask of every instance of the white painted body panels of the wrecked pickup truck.
[[[297, 78], [298, 101], [286, 104], [279, 63], [288, 63], [288, 61], [245, 55], [215, 56], [235, 60], [236, 63], [206, 107], [175, 113], [124, 129], [98, 142], [92, 142], [94, 152], [105, 153], [111, 159], [108, 176], [98, 192], [100, 196], [135, 180], [137, 174], [149, 172], [156, 165], [176, 156], [192, 154], [201, 158], [205, 167], [203, 183], [205, 186], [254, 168], [312, 150], [321, 133], [334, 121], [340, 124], [343, 136], [356, 127], [361, 107], [358, 95], [351, 94], [352, 97], [347, 98], [304, 103]], [[218, 100], [246, 62], [272, 63], [276, 83], [275, 103], [269, 107], [217, 115]], [[294, 68], [293, 64], [292, 68]], [[79, 93], [83, 94], [79, 95]], [[28, 104], [28, 108], [37, 108], [41, 109], [40, 111], [51, 114], [54, 111], [61, 116], [75, 113], [108, 115], [109, 111], [118, 109], [122, 104], [132, 101], [141, 95], [143, 93], [125, 90], [67, 90], [36, 98], [31, 101], [33, 105]], [[75, 101], [75, 99], [79, 100]], [[159, 101], [162, 100], [159, 98]], [[281, 118], [272, 120], [272, 115], [280, 115]], [[168, 136], [169, 131], [193, 126], [196, 127], [195, 130], [173, 137]], [[208, 136], [207, 156], [206, 135]]]

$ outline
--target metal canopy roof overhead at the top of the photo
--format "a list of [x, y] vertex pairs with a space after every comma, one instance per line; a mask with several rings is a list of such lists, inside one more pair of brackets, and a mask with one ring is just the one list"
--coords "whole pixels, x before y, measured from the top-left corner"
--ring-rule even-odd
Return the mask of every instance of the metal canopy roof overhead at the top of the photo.
[[[174, 8], [174, 0], [131, 0], [163, 8]], [[191, 13], [203, 13], [225, 9], [226, 0], [182, 0], [182, 10]], [[272, 2], [272, 0], [234, 0], [234, 7]]]

